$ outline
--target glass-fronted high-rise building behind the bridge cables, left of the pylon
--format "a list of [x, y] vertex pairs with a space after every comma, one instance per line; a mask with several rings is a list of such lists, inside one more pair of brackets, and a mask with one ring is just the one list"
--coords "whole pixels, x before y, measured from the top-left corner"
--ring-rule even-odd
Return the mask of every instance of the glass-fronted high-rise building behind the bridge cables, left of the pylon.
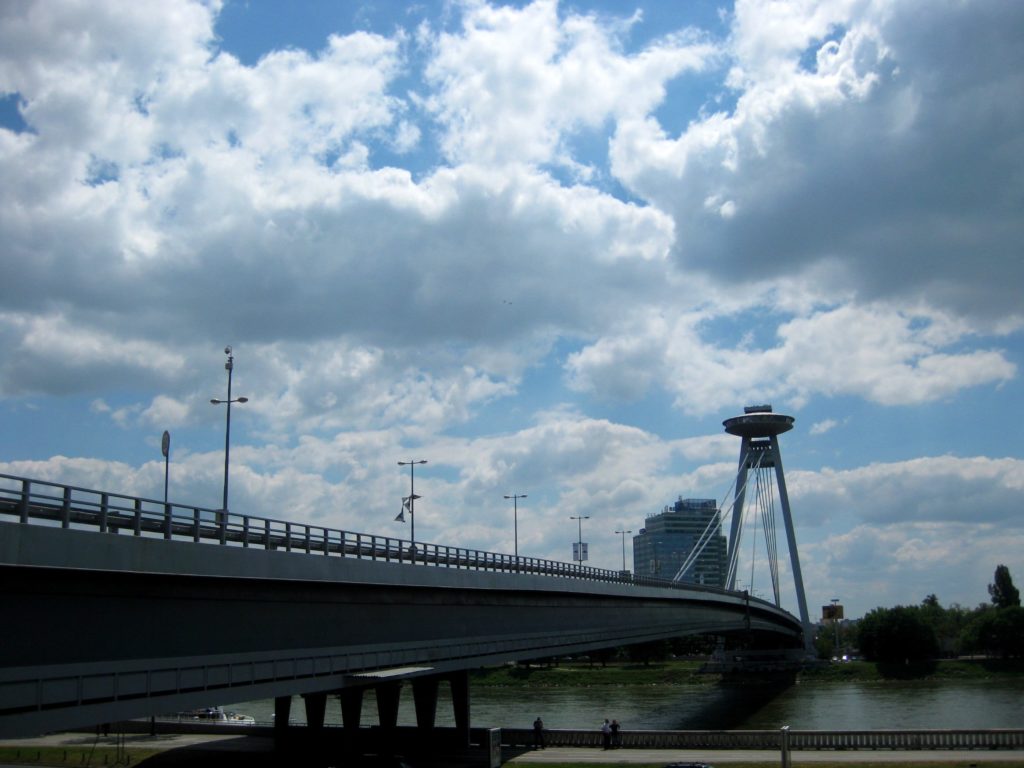
[[648, 517], [633, 537], [633, 568], [638, 577], [673, 579], [711, 525], [711, 541], [682, 578], [688, 584], [724, 587], [726, 546], [718, 503], [714, 499], [679, 498]]

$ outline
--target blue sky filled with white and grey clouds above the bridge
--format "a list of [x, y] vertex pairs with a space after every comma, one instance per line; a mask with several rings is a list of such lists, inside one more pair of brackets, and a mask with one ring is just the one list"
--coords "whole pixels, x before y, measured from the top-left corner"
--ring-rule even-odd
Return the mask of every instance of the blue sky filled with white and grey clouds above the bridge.
[[408, 538], [427, 460], [418, 541], [569, 561], [588, 516], [617, 569], [616, 530], [726, 504], [722, 422], [771, 403], [812, 616], [987, 602], [1024, 580], [1021, 30], [0, 3], [0, 473], [160, 499], [166, 430], [171, 500], [219, 508], [230, 345], [233, 513]]

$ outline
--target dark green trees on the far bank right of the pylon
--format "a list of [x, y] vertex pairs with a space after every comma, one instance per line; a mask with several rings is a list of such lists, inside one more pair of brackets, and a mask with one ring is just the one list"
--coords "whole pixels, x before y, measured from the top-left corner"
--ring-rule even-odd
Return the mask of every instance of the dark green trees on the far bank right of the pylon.
[[[906, 663], [941, 656], [1024, 657], [1024, 608], [1006, 565], [995, 568], [989, 602], [943, 607], [935, 595], [920, 605], [876, 608], [857, 623], [854, 640], [869, 662]], [[819, 641], [827, 644], [828, 633]], [[819, 642], [819, 652], [824, 650]]]

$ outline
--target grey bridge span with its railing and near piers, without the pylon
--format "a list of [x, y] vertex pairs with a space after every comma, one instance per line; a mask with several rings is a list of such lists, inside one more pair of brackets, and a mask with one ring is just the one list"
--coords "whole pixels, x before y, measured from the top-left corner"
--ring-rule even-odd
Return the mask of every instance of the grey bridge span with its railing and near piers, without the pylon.
[[422, 544], [0, 474], [0, 737], [329, 694], [346, 730], [402, 681], [430, 729], [468, 671], [684, 635], [801, 646], [800, 620], [745, 593]]

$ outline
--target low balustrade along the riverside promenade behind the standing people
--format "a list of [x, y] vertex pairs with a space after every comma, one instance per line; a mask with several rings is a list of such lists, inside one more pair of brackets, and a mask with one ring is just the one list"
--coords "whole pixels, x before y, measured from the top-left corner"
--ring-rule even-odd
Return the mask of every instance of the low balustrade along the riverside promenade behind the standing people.
[[[782, 731], [621, 731], [623, 749], [781, 750]], [[600, 748], [596, 730], [545, 729], [547, 746]], [[530, 746], [529, 728], [502, 728], [502, 743]], [[1024, 730], [788, 730], [790, 750], [1024, 750]]]

